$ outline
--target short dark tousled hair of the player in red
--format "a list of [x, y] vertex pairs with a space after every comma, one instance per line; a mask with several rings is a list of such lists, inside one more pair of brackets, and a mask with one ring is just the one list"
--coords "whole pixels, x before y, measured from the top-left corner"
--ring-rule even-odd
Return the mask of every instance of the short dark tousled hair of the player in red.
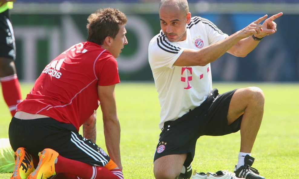
[[103, 45], [106, 37], [116, 37], [119, 25], [127, 23], [127, 16], [118, 9], [104, 8], [90, 14], [87, 21], [87, 41]]

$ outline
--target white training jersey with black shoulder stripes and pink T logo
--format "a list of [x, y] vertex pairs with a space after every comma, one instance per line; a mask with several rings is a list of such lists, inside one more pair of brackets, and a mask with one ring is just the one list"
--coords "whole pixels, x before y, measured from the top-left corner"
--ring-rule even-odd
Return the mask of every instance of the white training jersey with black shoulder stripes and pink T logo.
[[[228, 37], [211, 21], [193, 17], [187, 25], [187, 38], [170, 42], [163, 31], [150, 41], [149, 63], [161, 106], [160, 129], [164, 122], [176, 120], [198, 107], [212, 90], [210, 64], [174, 66], [184, 49], [200, 50]], [[190, 56], [192, 58], [192, 56]]]

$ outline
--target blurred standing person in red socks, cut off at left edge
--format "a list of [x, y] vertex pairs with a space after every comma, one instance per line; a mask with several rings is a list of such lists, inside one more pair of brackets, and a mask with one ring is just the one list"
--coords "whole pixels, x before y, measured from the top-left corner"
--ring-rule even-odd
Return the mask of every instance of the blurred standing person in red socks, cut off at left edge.
[[15, 36], [10, 21], [9, 9], [15, 0], [0, 0], [0, 81], [2, 94], [11, 116], [22, 101], [20, 83], [15, 68]]

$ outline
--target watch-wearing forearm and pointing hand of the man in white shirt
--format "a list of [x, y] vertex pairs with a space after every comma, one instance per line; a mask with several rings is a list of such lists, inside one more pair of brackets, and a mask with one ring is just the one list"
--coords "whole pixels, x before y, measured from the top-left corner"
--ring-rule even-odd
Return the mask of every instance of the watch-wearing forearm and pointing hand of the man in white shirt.
[[[282, 16], [282, 12], [275, 14], [270, 18], [266, 19], [262, 25], [259, 24], [260, 23], [259, 20], [260, 19], [264, 20], [265, 18], [267, 18], [267, 15], [253, 22], [252, 24], [256, 24], [258, 27], [260, 27], [260, 30], [258, 30], [257, 28], [256, 33], [253, 33], [253, 35], [256, 38], [261, 39], [267, 35], [274, 34], [276, 32], [276, 26], [277, 26], [277, 24], [274, 22], [274, 19], [280, 16]], [[228, 53], [235, 56], [245, 57], [248, 53], [250, 53], [253, 49], [255, 49], [258, 43], [259, 41], [254, 40], [251, 35], [245, 39], [240, 40], [237, 44], [232, 46], [232, 48], [228, 50]]]

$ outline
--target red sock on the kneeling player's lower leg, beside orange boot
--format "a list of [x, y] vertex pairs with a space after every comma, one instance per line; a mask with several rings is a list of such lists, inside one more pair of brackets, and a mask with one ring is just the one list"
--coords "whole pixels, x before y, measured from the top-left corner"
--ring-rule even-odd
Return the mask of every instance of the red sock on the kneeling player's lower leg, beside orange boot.
[[82, 179], [120, 179], [120, 176], [123, 176], [116, 171], [114, 174], [105, 167], [92, 166], [81, 161], [64, 158], [61, 155], [57, 157], [55, 172], [73, 174]]

